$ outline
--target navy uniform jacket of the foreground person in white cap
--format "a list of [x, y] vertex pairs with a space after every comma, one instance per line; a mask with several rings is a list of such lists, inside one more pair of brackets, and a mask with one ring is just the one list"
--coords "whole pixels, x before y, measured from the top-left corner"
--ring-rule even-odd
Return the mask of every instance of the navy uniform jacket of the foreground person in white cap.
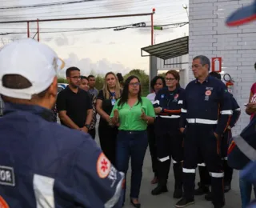
[[0, 205], [121, 207], [123, 174], [89, 134], [49, 122], [50, 117], [51, 111], [39, 106], [6, 103], [0, 118]]

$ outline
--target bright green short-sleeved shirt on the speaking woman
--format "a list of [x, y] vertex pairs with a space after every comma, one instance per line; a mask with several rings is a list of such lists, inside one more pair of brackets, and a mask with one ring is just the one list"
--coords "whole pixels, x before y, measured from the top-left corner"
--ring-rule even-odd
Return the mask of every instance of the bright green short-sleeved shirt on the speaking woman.
[[114, 117], [114, 110], [117, 109], [120, 121], [119, 130], [146, 130], [147, 123], [141, 118], [142, 110], [147, 116], [155, 117], [154, 107], [148, 98], [142, 97], [142, 102], [136, 102], [132, 107], [127, 103], [118, 106], [118, 102], [115, 103], [110, 117]]

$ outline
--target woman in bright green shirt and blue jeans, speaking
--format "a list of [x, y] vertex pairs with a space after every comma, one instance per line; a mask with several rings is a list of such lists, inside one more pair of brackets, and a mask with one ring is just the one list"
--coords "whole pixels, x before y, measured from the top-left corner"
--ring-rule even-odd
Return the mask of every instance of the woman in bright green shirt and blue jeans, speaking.
[[[142, 166], [147, 148], [146, 127], [154, 122], [154, 107], [148, 98], [141, 97], [141, 83], [136, 76], [130, 76], [124, 83], [121, 98], [115, 103], [110, 118], [118, 124], [116, 167], [126, 174], [131, 158], [130, 202], [138, 202], [142, 182]], [[125, 201], [125, 194], [123, 202]]]

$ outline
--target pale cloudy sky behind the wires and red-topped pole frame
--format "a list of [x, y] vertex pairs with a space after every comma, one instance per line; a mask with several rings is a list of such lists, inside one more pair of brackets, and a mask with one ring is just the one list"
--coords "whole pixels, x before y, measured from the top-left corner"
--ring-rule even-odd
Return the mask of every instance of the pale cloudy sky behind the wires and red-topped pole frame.
[[[75, 1], [75, 0], [74, 0]], [[155, 8], [154, 25], [188, 22], [183, 4], [188, 0], [95, 0], [62, 6], [6, 9], [11, 6], [33, 6], [70, 0], [0, 0], [0, 22], [46, 19], [79, 18], [118, 14], [146, 14]], [[72, 2], [72, 1], [71, 1]], [[128, 73], [132, 69], [149, 71], [149, 58], [141, 56], [141, 48], [150, 46], [150, 27], [92, 30], [92, 28], [115, 27], [145, 22], [150, 26], [150, 16], [129, 18], [102, 18], [93, 20], [39, 22], [40, 42], [53, 48], [66, 62], [66, 68], [77, 66], [83, 75], [106, 74], [108, 71]], [[30, 35], [36, 36], [36, 23], [30, 23]], [[90, 30], [89, 30], [90, 29]], [[0, 24], [0, 46], [15, 39], [26, 38], [26, 23]], [[67, 30], [80, 30], [63, 32]], [[163, 30], [154, 30], [154, 42], [166, 42], [188, 35], [188, 25]], [[49, 33], [50, 32], [50, 33]], [[58, 33], [54, 33], [58, 32]], [[64, 76], [62, 70], [60, 76]]]

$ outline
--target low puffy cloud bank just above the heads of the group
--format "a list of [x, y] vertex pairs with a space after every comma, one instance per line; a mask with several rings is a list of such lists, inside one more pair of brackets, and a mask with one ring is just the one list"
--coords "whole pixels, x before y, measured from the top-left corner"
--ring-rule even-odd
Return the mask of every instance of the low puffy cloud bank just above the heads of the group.
[[78, 67], [81, 70], [81, 74], [85, 76], [88, 76], [91, 73], [95, 75], [105, 75], [109, 71], [127, 74], [131, 70], [130, 68], [122, 65], [120, 62], [109, 62], [106, 58], [102, 58], [98, 62], [93, 62], [90, 58], [79, 59], [74, 53], [70, 54], [69, 58], [64, 59], [64, 62], [66, 66], [65, 69], [58, 74], [60, 77], [65, 77], [66, 69], [70, 66]]

